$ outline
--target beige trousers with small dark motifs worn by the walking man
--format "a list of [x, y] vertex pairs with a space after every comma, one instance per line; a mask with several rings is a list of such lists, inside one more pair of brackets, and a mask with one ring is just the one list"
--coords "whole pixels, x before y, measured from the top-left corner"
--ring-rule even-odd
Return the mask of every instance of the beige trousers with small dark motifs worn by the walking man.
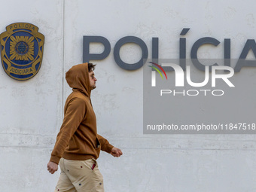
[[59, 160], [61, 173], [54, 192], [104, 192], [96, 160]]

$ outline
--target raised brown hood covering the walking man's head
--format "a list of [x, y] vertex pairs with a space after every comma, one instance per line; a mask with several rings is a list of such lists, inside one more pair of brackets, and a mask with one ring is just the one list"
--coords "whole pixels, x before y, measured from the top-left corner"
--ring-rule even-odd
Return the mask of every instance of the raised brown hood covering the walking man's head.
[[91, 88], [87, 62], [72, 66], [72, 68], [66, 72], [66, 81], [73, 90], [78, 90], [90, 97]]

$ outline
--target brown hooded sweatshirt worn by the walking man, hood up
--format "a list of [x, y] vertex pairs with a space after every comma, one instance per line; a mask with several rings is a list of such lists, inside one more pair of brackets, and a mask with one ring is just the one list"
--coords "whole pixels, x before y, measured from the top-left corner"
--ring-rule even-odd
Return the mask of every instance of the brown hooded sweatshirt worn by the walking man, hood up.
[[66, 81], [73, 92], [66, 100], [64, 120], [50, 161], [58, 164], [61, 157], [68, 160], [97, 159], [100, 150], [110, 153], [113, 146], [97, 134], [87, 63], [69, 69]]

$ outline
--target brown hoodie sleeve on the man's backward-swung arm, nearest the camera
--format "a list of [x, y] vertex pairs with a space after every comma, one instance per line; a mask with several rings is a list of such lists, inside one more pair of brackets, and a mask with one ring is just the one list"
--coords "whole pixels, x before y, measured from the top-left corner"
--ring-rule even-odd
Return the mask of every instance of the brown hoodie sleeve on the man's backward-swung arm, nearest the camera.
[[50, 161], [59, 164], [59, 160], [69, 145], [70, 139], [84, 119], [85, 112], [86, 104], [83, 99], [74, 98], [69, 102], [62, 126], [56, 138], [55, 146], [51, 153]]

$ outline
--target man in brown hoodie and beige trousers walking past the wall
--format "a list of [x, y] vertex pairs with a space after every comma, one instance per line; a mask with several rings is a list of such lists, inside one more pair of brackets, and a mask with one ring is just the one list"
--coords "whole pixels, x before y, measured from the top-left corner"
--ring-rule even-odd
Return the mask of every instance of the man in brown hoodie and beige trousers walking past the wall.
[[58, 164], [61, 169], [55, 191], [104, 191], [96, 162], [100, 150], [114, 157], [123, 154], [97, 134], [96, 115], [90, 100], [97, 81], [94, 67], [92, 63], [83, 63], [66, 72], [66, 81], [73, 92], [66, 100], [63, 123], [47, 164], [52, 174], [58, 169]]

